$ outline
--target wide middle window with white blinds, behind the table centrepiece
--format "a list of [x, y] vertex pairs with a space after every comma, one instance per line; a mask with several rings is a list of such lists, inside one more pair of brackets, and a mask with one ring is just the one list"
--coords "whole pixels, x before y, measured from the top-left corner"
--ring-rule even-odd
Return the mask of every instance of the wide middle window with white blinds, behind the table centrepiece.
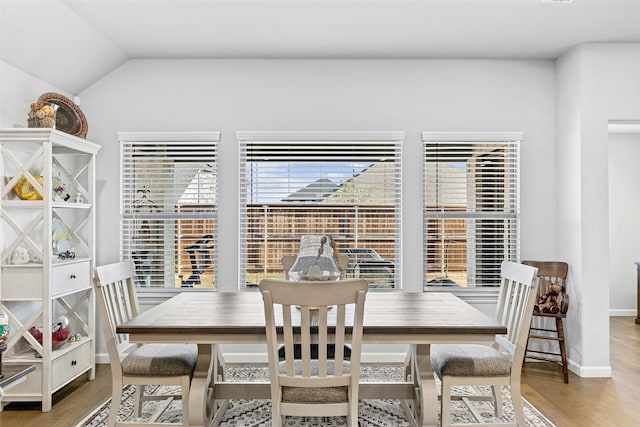
[[283, 277], [300, 237], [331, 236], [347, 277], [400, 286], [403, 132], [238, 132], [240, 281]]

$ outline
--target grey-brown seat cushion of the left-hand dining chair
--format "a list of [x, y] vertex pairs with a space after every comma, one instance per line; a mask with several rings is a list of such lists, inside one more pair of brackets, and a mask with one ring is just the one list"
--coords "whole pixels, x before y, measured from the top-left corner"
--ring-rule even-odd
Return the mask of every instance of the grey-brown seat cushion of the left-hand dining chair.
[[198, 359], [195, 344], [145, 344], [122, 361], [125, 375], [191, 375]]

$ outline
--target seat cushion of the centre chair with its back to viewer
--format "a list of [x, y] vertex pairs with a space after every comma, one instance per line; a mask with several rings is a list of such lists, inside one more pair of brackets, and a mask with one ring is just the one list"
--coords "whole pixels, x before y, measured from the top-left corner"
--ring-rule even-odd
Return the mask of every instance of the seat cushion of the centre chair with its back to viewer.
[[[280, 373], [286, 373], [285, 362], [280, 362]], [[294, 362], [294, 368], [297, 375], [302, 373], [302, 362], [296, 360]], [[343, 373], [348, 374], [351, 370], [351, 365], [348, 361], [344, 362]], [[333, 361], [327, 362], [327, 374], [333, 375], [334, 363]], [[311, 375], [318, 375], [318, 361], [311, 361]], [[295, 403], [339, 403], [347, 402], [349, 400], [349, 388], [345, 386], [340, 387], [282, 387], [282, 401], [283, 402], [295, 402]]]

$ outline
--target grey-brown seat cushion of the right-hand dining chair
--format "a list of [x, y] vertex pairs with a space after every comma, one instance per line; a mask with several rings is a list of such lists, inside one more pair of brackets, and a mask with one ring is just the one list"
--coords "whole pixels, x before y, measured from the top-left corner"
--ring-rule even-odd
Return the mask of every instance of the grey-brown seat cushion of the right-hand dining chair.
[[504, 376], [511, 374], [511, 360], [493, 347], [479, 344], [431, 346], [431, 366], [439, 377]]

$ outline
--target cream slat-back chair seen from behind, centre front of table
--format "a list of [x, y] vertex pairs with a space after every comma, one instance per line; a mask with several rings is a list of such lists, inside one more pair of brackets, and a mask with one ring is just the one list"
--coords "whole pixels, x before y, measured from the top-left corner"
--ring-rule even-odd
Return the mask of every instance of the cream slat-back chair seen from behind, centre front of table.
[[[265, 310], [272, 426], [281, 426], [286, 416], [346, 416], [348, 425], [357, 427], [368, 282], [262, 279], [258, 286]], [[326, 350], [330, 341], [336, 349], [333, 358]], [[294, 355], [294, 343], [300, 344], [300, 358]], [[351, 345], [349, 361], [344, 358], [345, 343]], [[313, 344], [317, 358], [311, 357]], [[282, 362], [280, 345], [285, 348]]]

